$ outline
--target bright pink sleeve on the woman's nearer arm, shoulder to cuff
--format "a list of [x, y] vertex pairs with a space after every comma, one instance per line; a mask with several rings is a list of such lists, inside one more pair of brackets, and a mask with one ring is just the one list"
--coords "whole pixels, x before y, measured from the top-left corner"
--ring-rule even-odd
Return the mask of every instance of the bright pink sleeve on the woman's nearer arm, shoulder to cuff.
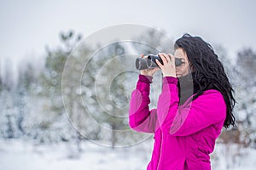
[[212, 124], [224, 122], [226, 105], [217, 90], [207, 90], [197, 99], [181, 106], [178, 101], [177, 78], [163, 77], [162, 93], [157, 105], [163, 133], [187, 136]]

